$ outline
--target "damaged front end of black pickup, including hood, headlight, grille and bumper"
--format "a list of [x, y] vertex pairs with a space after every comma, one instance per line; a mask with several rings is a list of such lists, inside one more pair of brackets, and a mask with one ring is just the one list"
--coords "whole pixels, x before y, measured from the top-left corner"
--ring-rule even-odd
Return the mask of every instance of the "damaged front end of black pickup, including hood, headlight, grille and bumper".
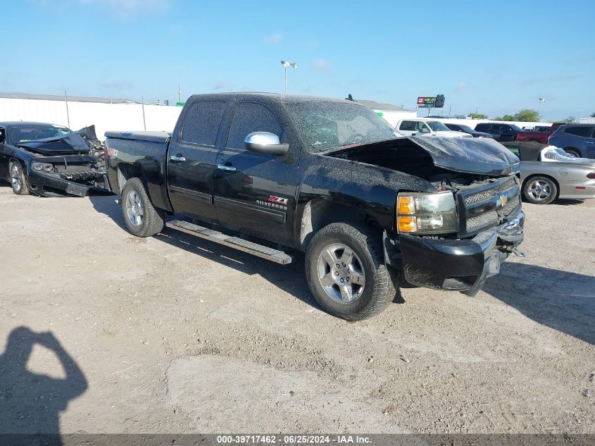
[[524, 256], [519, 160], [498, 142], [411, 137], [331, 156], [416, 175], [436, 188], [399, 192], [394, 232], [384, 233], [387, 264], [407, 283], [475, 295], [510, 254]]

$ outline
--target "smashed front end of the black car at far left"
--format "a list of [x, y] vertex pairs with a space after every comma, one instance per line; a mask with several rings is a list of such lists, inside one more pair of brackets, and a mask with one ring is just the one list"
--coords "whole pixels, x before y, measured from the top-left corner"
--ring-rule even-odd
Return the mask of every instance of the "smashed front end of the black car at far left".
[[18, 145], [33, 154], [26, 172], [33, 193], [84, 197], [91, 189], [108, 190], [105, 161], [89, 153], [94, 147], [82, 135], [75, 132]]

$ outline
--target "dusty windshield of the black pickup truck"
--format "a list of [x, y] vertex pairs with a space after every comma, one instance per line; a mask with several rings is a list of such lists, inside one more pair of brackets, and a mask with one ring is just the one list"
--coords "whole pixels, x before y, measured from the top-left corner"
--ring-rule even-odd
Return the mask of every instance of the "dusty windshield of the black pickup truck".
[[399, 136], [387, 121], [361, 104], [296, 101], [286, 105], [308, 149], [315, 153]]

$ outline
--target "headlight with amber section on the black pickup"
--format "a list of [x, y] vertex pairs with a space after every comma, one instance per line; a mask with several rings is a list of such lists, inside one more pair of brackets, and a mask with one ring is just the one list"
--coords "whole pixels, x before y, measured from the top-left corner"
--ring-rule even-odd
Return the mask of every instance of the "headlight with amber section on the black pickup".
[[406, 192], [396, 196], [399, 233], [456, 233], [456, 203], [452, 192]]

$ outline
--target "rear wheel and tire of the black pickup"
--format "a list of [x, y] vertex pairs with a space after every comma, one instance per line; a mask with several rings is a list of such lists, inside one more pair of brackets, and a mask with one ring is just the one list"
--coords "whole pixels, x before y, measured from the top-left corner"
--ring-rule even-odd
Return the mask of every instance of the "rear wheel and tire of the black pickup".
[[163, 229], [163, 216], [154, 208], [139, 178], [130, 178], [124, 185], [122, 213], [128, 230], [137, 237], [151, 237]]

